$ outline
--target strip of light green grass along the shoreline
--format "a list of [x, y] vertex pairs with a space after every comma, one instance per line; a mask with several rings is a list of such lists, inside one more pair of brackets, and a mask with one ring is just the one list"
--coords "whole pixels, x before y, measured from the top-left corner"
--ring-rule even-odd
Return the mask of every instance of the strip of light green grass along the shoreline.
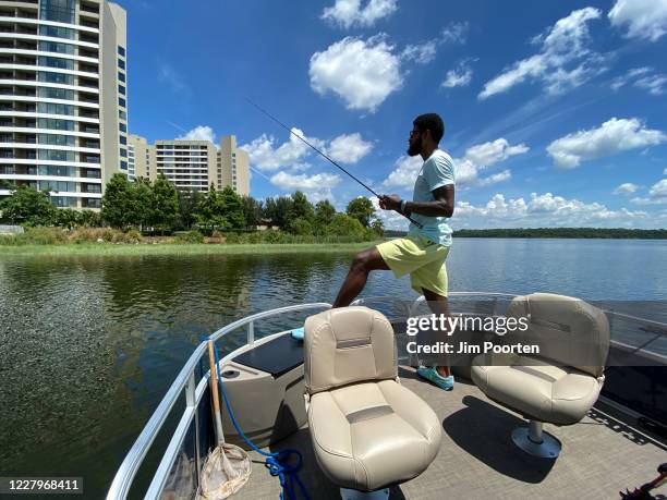
[[246, 244], [128, 244], [66, 243], [60, 245], [0, 245], [4, 255], [240, 255], [240, 254], [336, 254], [368, 248], [378, 242], [362, 243], [246, 243]]

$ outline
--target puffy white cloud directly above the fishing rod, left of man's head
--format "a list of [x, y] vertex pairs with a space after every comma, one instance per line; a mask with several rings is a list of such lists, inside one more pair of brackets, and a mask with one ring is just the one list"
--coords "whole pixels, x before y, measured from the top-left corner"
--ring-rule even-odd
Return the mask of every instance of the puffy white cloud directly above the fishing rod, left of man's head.
[[311, 87], [319, 95], [338, 95], [348, 109], [375, 111], [403, 84], [400, 57], [378, 35], [347, 37], [311, 57]]

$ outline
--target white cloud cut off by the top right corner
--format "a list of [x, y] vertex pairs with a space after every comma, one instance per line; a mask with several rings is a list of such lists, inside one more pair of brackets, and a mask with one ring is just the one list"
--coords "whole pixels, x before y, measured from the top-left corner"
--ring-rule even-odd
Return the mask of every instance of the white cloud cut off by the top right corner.
[[667, 33], [666, 0], [618, 0], [608, 16], [614, 26], [627, 26], [628, 38], [656, 41]]

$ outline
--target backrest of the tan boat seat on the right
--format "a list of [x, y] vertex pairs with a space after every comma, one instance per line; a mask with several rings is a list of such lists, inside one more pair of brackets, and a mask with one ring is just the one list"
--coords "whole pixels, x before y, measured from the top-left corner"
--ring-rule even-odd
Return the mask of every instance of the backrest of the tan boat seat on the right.
[[594, 377], [603, 375], [609, 351], [609, 322], [597, 307], [566, 295], [533, 293], [516, 297], [507, 316], [530, 317], [529, 329], [508, 334], [508, 341], [537, 342], [541, 357]]

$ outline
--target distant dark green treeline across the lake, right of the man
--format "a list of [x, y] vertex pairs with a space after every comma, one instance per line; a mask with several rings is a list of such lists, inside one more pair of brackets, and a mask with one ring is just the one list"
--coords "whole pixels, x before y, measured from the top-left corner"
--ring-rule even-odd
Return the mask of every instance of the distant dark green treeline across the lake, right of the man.
[[[389, 231], [387, 231], [389, 233]], [[460, 229], [454, 237], [603, 237], [614, 240], [667, 240], [667, 229], [536, 228]]]

